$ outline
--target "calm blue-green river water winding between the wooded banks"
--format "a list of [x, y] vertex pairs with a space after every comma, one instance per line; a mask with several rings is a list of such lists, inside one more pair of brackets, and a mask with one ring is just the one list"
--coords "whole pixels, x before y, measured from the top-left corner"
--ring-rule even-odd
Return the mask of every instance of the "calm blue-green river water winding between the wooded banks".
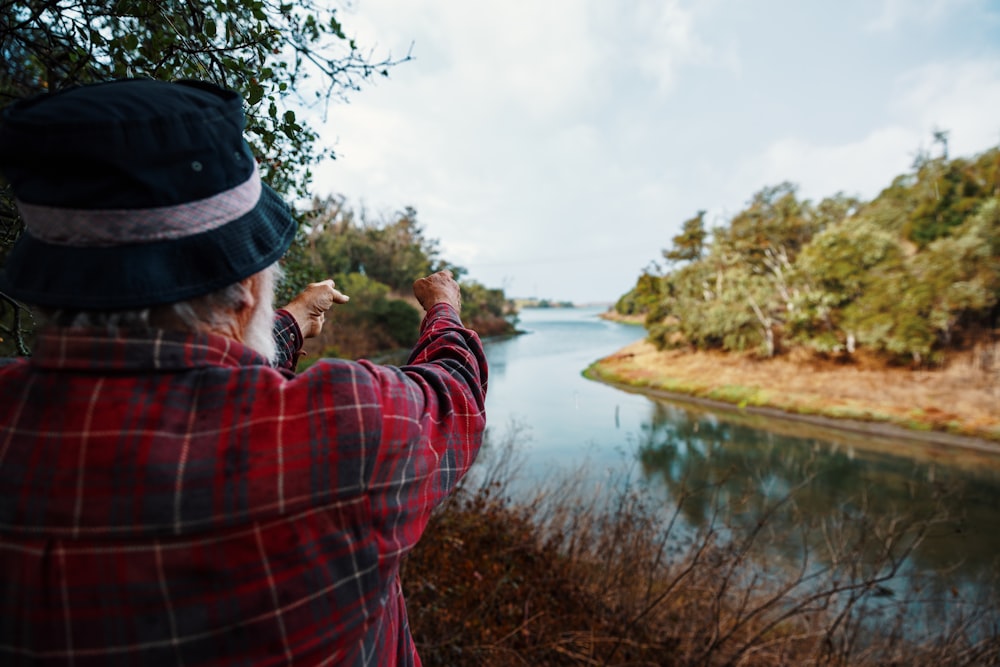
[[[590, 363], [645, 335], [641, 327], [599, 319], [600, 310], [525, 310], [520, 328], [529, 333], [487, 343], [491, 435], [502, 439], [516, 429], [522, 479], [544, 483], [584, 463], [595, 477], [635, 469], [666, 503], [678, 502], [683, 489], [711, 489], [737, 522], [756, 521], [797, 486], [795, 507], [817, 522], [845, 514], [929, 517], [944, 509], [951, 518], [934, 528], [905, 571], [948, 571], [936, 579], [945, 591], [997, 590], [1000, 457], [713, 413], [587, 380], [581, 372]], [[708, 521], [710, 497], [685, 496], [689, 526]], [[791, 513], [772, 519], [778, 535], [796, 533], [801, 521]], [[777, 552], [796, 552], [796, 544], [772, 540]]]

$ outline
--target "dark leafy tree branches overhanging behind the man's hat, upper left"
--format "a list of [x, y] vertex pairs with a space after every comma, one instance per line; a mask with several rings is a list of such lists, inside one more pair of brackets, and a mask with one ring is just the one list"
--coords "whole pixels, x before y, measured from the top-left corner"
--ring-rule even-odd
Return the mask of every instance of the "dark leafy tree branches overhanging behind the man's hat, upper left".
[[[121, 77], [201, 79], [238, 90], [262, 177], [278, 192], [304, 195], [310, 166], [329, 151], [296, 108], [343, 99], [409, 55], [362, 51], [336, 9], [313, 0], [0, 0], [0, 59], [0, 108]], [[2, 261], [22, 232], [7, 188], [0, 225]], [[24, 314], [4, 302], [11, 322]], [[19, 324], [4, 326], [11, 332]]]

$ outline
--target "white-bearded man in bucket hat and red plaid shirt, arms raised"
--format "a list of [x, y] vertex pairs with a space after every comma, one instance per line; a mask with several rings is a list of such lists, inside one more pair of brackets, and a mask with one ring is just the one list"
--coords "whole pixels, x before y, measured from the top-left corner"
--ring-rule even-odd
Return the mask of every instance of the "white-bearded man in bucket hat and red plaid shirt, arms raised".
[[0, 289], [48, 325], [0, 365], [0, 664], [414, 665], [402, 558], [472, 464], [486, 362], [448, 273], [407, 366], [271, 309], [295, 223], [242, 101], [130, 80], [10, 107], [26, 232]]

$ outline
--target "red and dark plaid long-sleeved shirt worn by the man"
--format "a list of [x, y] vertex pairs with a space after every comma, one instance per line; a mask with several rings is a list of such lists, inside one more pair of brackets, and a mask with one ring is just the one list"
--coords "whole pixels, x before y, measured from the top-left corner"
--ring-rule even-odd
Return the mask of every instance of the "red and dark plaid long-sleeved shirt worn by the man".
[[485, 426], [434, 306], [408, 365], [213, 335], [41, 335], [0, 365], [0, 664], [419, 665], [400, 559]]

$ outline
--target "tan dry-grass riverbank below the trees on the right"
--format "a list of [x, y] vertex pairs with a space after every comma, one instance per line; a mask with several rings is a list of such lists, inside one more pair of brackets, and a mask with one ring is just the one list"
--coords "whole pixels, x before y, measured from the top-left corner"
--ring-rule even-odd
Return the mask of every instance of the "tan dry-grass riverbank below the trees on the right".
[[826, 426], [1000, 453], [1000, 377], [971, 356], [940, 370], [843, 364], [811, 355], [756, 359], [657, 350], [633, 343], [592, 364], [587, 377]]

